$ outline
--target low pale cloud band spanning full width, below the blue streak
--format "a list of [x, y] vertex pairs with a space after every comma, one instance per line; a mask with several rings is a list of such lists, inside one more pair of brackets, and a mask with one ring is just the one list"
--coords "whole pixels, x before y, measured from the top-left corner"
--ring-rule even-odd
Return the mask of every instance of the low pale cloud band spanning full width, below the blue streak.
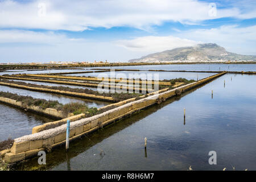
[[[115, 42], [72, 39], [52, 31], [0, 30], [0, 62], [45, 60], [127, 61], [149, 53], [197, 43], [217, 43], [227, 51], [256, 55], [256, 26], [221, 26], [176, 31], [172, 36], [142, 36]], [[36, 44], [36, 45], [35, 45]]]

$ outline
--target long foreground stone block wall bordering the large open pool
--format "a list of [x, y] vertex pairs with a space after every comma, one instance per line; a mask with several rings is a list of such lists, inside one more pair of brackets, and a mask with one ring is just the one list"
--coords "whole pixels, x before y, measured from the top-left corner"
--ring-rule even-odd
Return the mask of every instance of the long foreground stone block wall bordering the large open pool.
[[[216, 77], [224, 75], [226, 72], [219, 73], [208, 78], [204, 78], [197, 82], [180, 86], [178, 88], [167, 90], [166, 92], [153, 94], [146, 98], [142, 98], [138, 101], [132, 101], [127, 104], [123, 104], [114, 109], [105, 111], [104, 113], [94, 115], [93, 117], [80, 119], [70, 123], [70, 141], [82, 137], [82, 135], [91, 133], [101, 127], [109, 125], [110, 123], [117, 121], [127, 115], [133, 114], [139, 110], [142, 110], [148, 106], [151, 106], [159, 100], [166, 100], [169, 97], [175, 96], [176, 93], [183, 93], [187, 90], [195, 88], [199, 85], [213, 80]], [[179, 92], [177, 92], [177, 90]], [[7, 152], [4, 157], [4, 161], [7, 163], [14, 163], [24, 159], [32, 158], [36, 156], [40, 150], [47, 150], [47, 148], [54, 148], [65, 143], [67, 125], [61, 125], [54, 129], [48, 129], [39, 133], [26, 135], [14, 140], [13, 147], [10, 152]]]

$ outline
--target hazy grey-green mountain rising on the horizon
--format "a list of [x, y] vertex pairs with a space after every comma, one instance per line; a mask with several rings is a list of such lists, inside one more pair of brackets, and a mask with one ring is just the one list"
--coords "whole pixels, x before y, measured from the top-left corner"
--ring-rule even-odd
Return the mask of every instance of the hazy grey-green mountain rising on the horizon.
[[140, 59], [132, 59], [129, 62], [166, 62], [166, 61], [255, 61], [256, 56], [239, 55], [226, 51], [217, 44], [197, 44], [193, 47], [180, 47], [163, 52], [152, 53]]

